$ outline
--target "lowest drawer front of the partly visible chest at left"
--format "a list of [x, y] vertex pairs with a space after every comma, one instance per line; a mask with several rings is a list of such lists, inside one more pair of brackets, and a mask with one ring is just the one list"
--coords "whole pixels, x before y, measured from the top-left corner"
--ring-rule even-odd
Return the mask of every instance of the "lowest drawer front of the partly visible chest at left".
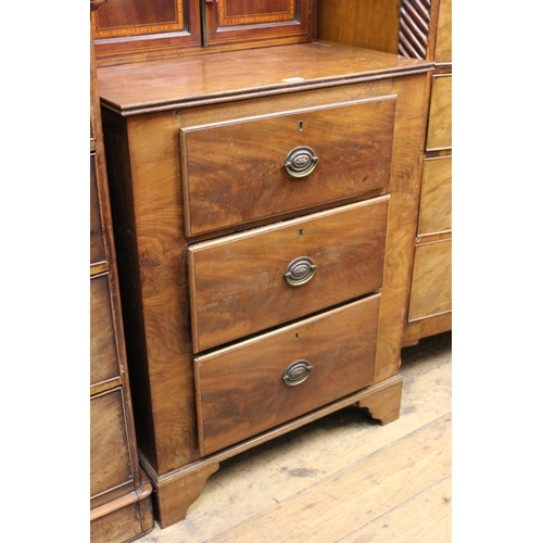
[[90, 399], [90, 496], [93, 506], [99, 505], [104, 493], [110, 501], [134, 485], [126, 424], [121, 389]]

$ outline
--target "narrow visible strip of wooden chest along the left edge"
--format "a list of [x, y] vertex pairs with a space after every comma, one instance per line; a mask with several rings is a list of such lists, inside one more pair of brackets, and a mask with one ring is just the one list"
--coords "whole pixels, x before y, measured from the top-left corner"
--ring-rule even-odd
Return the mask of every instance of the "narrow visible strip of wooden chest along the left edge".
[[[92, 50], [92, 42], [91, 42]], [[154, 526], [141, 472], [126, 366], [100, 101], [91, 56], [90, 103], [90, 533], [126, 542]]]

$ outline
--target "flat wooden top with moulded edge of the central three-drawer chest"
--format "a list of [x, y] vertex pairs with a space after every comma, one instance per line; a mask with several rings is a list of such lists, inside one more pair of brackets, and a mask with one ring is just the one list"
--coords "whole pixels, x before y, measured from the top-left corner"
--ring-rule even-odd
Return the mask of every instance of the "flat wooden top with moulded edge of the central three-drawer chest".
[[122, 115], [400, 77], [432, 62], [325, 41], [98, 68], [102, 103]]

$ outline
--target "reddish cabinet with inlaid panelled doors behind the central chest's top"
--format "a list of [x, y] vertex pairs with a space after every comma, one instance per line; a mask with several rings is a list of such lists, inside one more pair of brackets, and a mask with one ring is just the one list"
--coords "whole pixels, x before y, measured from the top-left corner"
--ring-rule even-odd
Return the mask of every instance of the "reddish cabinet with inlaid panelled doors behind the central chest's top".
[[313, 0], [109, 0], [92, 14], [101, 65], [312, 41]]

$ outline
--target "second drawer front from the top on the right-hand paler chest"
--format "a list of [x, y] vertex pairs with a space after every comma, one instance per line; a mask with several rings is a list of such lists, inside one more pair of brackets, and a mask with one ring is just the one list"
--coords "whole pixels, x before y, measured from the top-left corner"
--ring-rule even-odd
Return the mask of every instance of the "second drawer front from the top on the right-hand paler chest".
[[434, 75], [428, 117], [428, 151], [451, 149], [453, 144], [453, 76]]

